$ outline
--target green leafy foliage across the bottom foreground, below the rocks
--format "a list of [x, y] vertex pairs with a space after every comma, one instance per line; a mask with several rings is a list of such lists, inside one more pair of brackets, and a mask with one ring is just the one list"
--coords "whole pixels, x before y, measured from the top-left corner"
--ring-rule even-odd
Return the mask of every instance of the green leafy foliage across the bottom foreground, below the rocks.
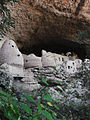
[[[41, 96], [36, 97], [22, 94], [19, 98], [15, 92], [0, 88], [0, 117], [5, 120], [72, 120], [76, 117], [79, 120], [80, 116], [75, 116], [74, 111], [78, 110], [79, 113], [79, 109], [85, 109], [79, 107], [73, 111], [73, 106], [76, 107], [74, 103], [68, 107], [59, 100], [54, 101], [45, 88], [40, 89], [40, 93]], [[88, 109], [85, 109], [85, 114], [88, 120]]]

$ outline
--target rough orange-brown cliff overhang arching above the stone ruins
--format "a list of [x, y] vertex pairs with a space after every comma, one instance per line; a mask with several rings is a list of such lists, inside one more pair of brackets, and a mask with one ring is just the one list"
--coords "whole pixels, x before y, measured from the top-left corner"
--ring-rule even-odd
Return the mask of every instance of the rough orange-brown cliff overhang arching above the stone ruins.
[[21, 50], [28, 52], [40, 45], [73, 49], [77, 43], [85, 45], [90, 56], [90, 39], [85, 38], [90, 29], [89, 0], [22, 0], [11, 10], [15, 29], [10, 32]]

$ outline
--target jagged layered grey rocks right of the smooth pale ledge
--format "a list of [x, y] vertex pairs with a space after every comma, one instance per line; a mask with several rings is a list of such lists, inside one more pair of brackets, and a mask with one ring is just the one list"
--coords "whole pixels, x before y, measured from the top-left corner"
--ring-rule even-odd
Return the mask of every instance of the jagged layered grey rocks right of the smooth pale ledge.
[[31, 69], [35, 78], [42, 84], [42, 78], [49, 83], [47, 92], [53, 99], [63, 102], [74, 102], [81, 105], [90, 105], [90, 70], [85, 65], [79, 73], [70, 75], [65, 73], [63, 66], [54, 68]]

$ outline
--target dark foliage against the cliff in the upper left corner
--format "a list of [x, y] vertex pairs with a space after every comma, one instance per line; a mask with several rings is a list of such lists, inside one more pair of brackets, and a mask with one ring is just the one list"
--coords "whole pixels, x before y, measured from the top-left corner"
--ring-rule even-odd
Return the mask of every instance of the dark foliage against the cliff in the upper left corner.
[[14, 19], [10, 15], [10, 10], [7, 4], [13, 5], [20, 0], [0, 0], [0, 35], [7, 32], [10, 27], [14, 27]]

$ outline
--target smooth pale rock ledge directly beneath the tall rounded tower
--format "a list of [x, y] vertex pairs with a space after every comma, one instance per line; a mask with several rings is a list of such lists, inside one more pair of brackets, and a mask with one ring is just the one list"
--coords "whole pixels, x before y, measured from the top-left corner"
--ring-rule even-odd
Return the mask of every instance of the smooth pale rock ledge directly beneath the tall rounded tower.
[[[24, 92], [29, 94], [31, 91], [40, 89], [41, 85], [38, 83], [38, 81], [34, 77], [33, 72], [31, 72], [30, 69], [23, 70], [23, 75], [22, 75], [22, 74], [19, 74], [20, 69], [16, 68], [16, 73], [18, 72], [19, 74], [17, 75], [16, 73], [11, 73], [8, 70], [9, 67], [10, 65], [8, 64], [3, 64], [2, 66], [0, 66], [0, 84], [1, 85], [6, 85], [8, 83], [8, 86], [14, 88], [17, 92], [21, 92], [21, 93]], [[6, 77], [3, 76], [3, 74], [5, 74], [6, 76], [11, 76], [12, 79], [6, 79]]]

